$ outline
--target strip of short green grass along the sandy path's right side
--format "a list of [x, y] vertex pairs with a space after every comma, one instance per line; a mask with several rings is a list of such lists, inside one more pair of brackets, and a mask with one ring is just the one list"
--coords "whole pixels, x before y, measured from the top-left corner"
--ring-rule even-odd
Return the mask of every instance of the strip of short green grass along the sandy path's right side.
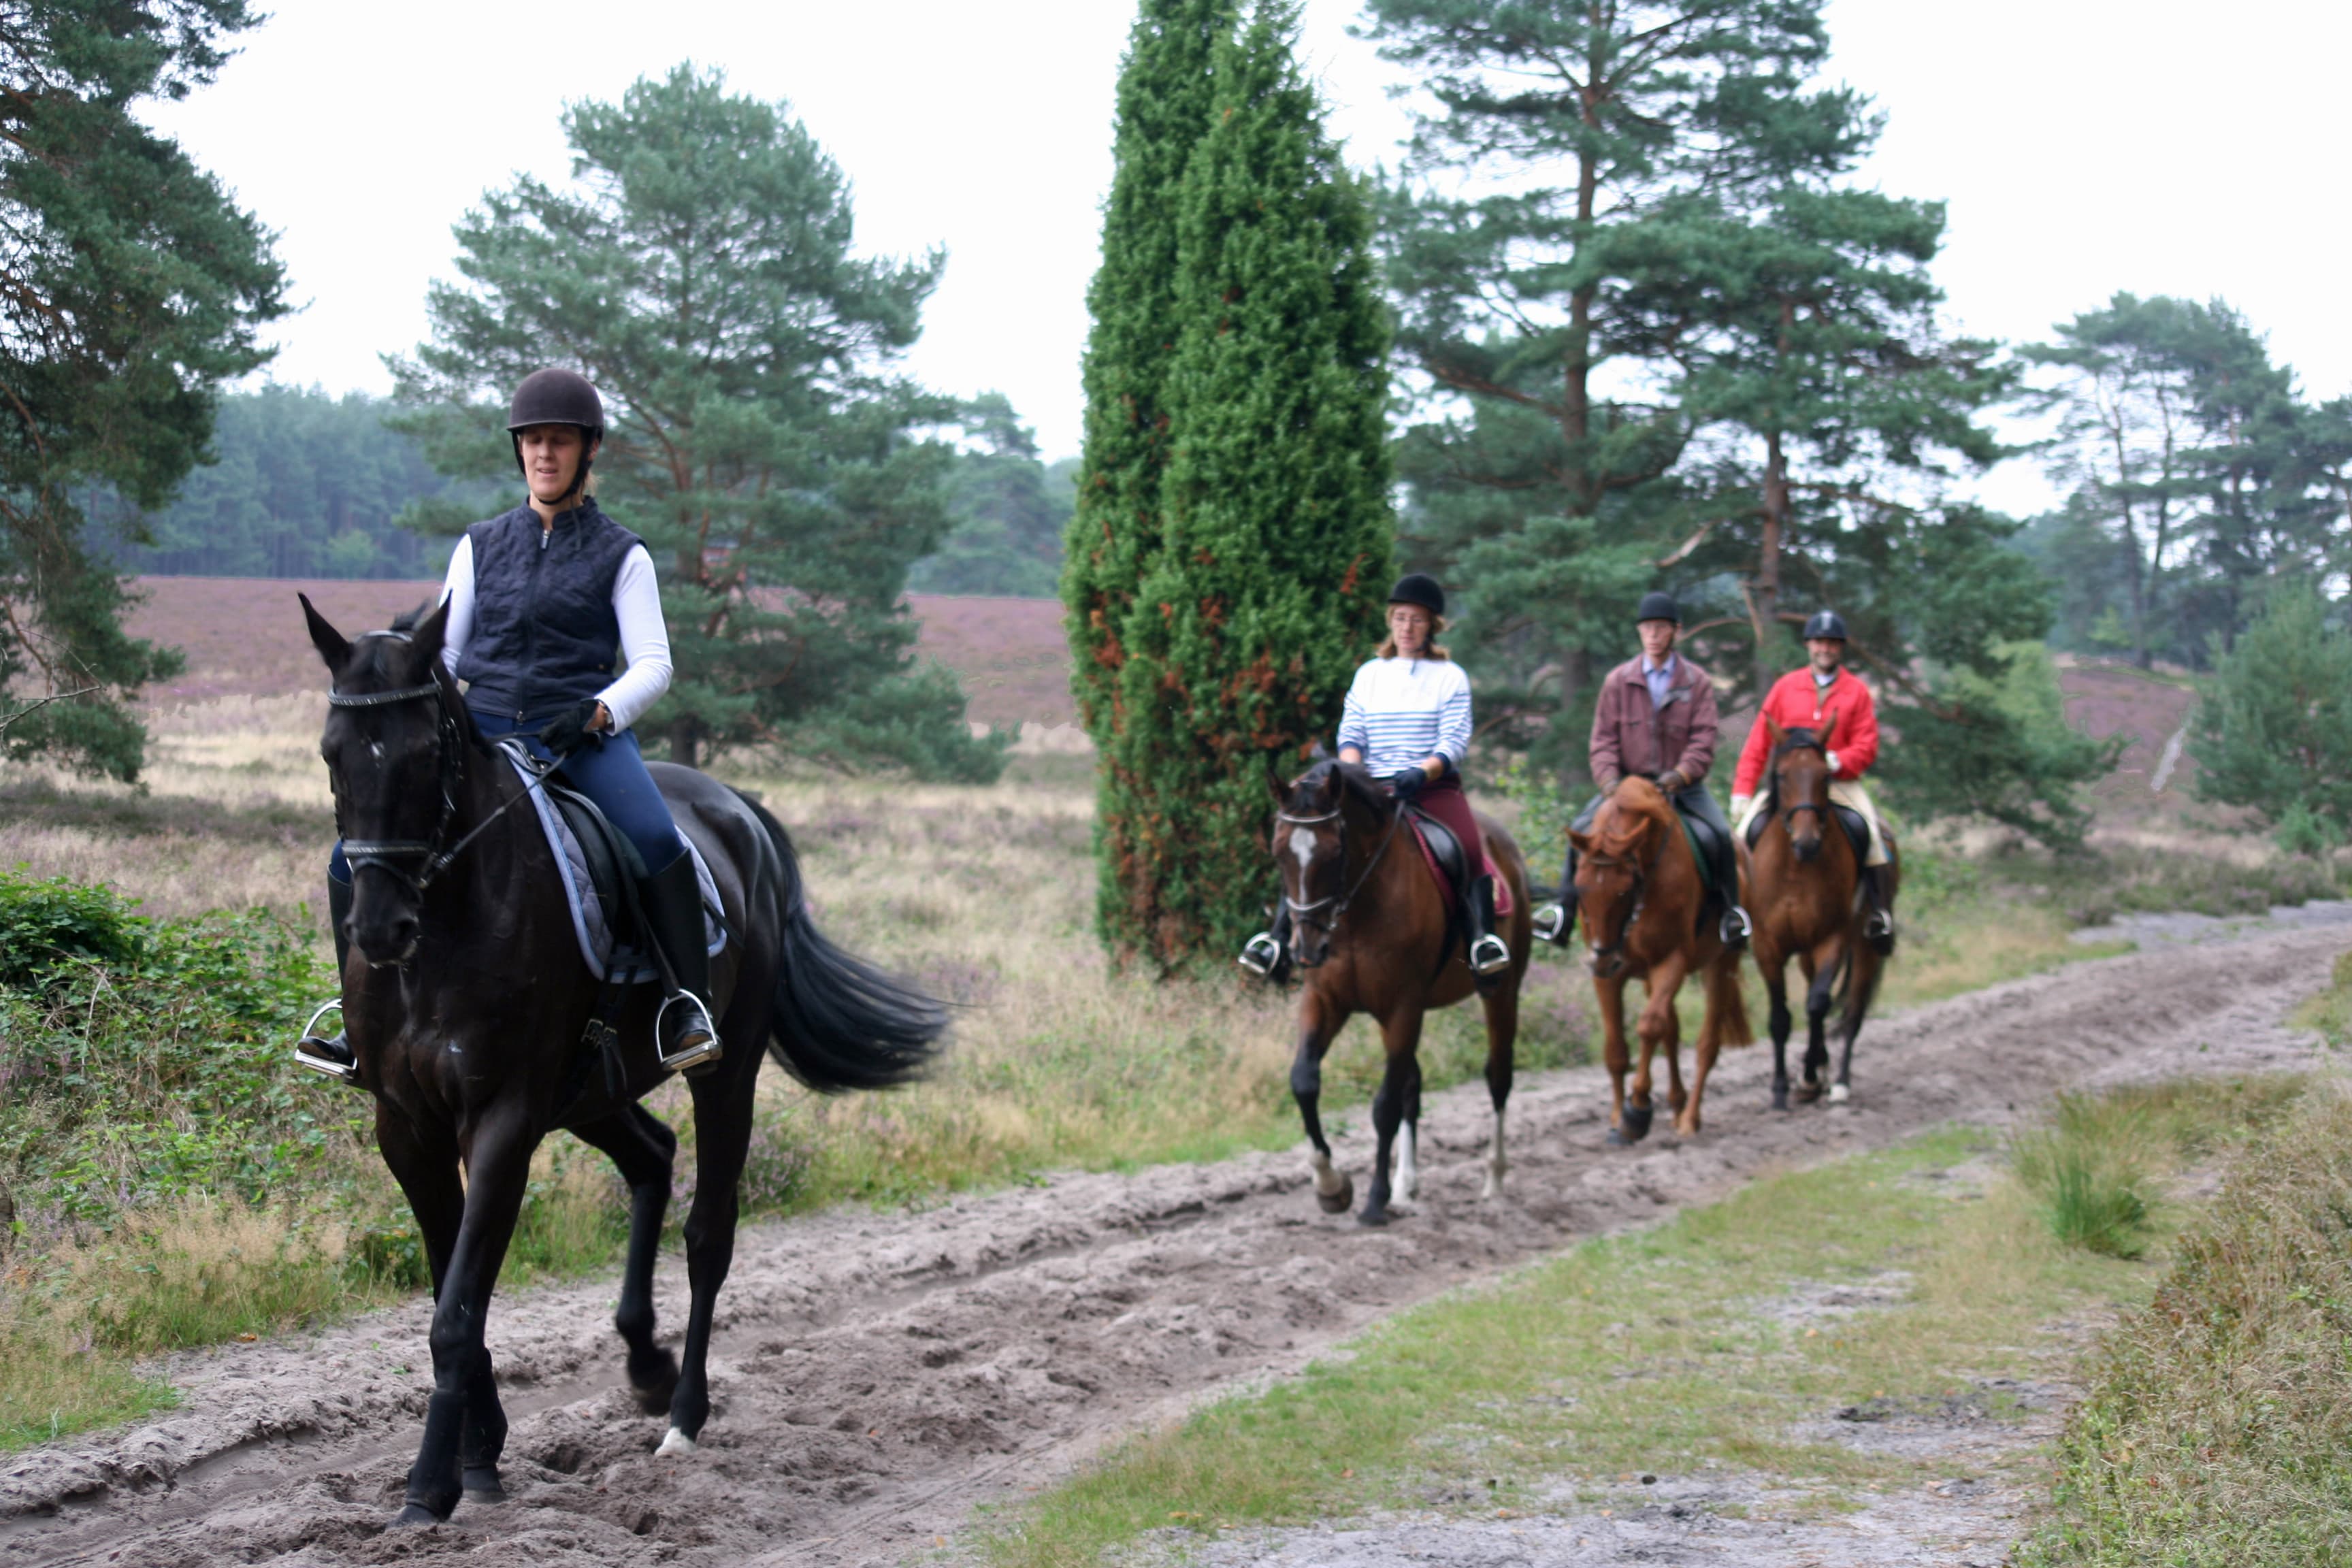
[[[2161, 1091], [2140, 1119], [2150, 1173], [2244, 1138], [2291, 1093]], [[2086, 1126], [2077, 1117], [2056, 1138]], [[2145, 1300], [2154, 1284], [2140, 1265], [2060, 1244], [1997, 1152], [1980, 1131], [1945, 1128], [1458, 1291], [1345, 1356], [1122, 1446], [1014, 1509], [983, 1547], [1025, 1568], [1098, 1563], [1148, 1530], [1381, 1507], [1491, 1514], [1562, 1481], [1602, 1500], [1637, 1472], [1750, 1472], [1804, 1493], [1797, 1507], [1835, 1509], [1950, 1474], [1804, 1422], [1846, 1403], [1957, 1396], [1999, 1418], [1980, 1380], [2046, 1378], [2070, 1354], [2042, 1324]], [[1980, 1199], [1955, 1197], [1971, 1192], [1955, 1168], [1983, 1175]], [[2176, 1220], [2159, 1204], [2150, 1241]], [[1788, 1309], [1860, 1281], [1893, 1281], [1900, 1300], [1846, 1319]]]

